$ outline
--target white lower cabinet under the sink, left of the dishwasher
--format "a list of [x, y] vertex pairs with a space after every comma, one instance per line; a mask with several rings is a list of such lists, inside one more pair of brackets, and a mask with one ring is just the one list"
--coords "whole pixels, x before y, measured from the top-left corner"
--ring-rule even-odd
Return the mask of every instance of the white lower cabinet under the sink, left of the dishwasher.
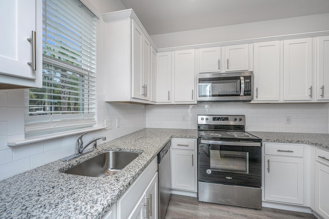
[[157, 158], [117, 201], [116, 218], [157, 218]]

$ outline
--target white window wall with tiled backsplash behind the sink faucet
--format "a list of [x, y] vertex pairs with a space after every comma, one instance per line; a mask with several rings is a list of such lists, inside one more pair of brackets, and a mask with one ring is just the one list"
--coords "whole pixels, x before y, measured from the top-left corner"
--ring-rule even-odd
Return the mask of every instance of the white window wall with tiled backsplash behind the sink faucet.
[[[118, 1], [98, 0], [102, 12], [117, 10]], [[112, 4], [113, 3], [113, 4]], [[106, 7], [107, 9], [106, 9]], [[123, 8], [124, 9], [124, 8]], [[84, 142], [96, 136], [106, 136], [106, 141], [145, 128], [145, 106], [138, 104], [104, 102], [104, 51], [103, 21], [97, 29], [97, 122], [112, 120], [113, 128], [108, 131], [89, 132], [83, 137]], [[8, 141], [24, 138], [24, 89], [0, 90], [0, 180], [59, 160], [75, 153], [75, 144], [79, 135], [56, 138], [21, 147], [9, 147]], [[120, 118], [120, 127], [115, 127], [116, 118]], [[102, 141], [99, 140], [99, 144]]]

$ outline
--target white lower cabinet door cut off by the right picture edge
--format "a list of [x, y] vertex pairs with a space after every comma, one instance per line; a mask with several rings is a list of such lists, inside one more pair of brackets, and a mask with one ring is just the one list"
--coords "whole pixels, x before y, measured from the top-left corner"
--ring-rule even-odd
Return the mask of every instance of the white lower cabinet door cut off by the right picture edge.
[[318, 162], [315, 163], [315, 211], [329, 218], [329, 167]]

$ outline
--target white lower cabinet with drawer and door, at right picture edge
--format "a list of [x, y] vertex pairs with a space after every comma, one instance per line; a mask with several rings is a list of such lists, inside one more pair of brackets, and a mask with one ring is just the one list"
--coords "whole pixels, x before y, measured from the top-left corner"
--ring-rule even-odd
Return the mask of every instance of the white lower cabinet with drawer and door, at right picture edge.
[[314, 210], [329, 218], [329, 152], [316, 149]]

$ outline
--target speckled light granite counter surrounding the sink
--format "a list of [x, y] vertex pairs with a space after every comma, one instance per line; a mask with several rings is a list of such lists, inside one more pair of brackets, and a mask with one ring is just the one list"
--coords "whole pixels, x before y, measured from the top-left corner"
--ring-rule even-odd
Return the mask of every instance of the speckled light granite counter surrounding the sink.
[[[171, 137], [197, 138], [197, 130], [143, 129], [101, 144], [70, 162], [52, 162], [0, 181], [0, 218], [101, 218]], [[111, 176], [60, 172], [108, 150], [141, 154]]]

